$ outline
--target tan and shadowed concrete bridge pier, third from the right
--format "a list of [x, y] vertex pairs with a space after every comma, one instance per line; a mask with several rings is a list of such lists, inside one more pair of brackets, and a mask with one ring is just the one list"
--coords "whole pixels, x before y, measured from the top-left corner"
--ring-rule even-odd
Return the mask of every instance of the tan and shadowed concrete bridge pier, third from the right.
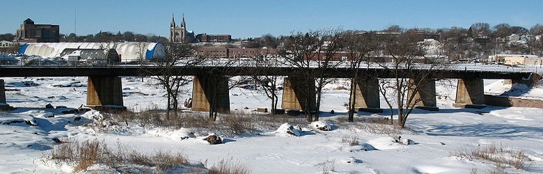
[[[354, 89], [351, 89], [356, 93], [354, 107], [358, 111], [382, 113], [381, 100], [379, 100], [379, 79], [375, 77], [360, 78], [355, 83]], [[352, 102], [353, 98], [350, 100]]]

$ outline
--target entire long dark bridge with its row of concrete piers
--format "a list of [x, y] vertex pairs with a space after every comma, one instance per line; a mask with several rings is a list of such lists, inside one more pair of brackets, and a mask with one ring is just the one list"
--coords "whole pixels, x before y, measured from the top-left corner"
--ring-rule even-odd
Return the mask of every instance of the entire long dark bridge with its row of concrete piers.
[[[168, 74], [193, 76], [193, 111], [209, 111], [210, 95], [217, 95], [218, 111], [229, 113], [228, 77], [232, 76], [281, 76], [285, 77], [283, 85], [282, 109], [303, 110], [304, 98], [314, 97], [299, 92], [303, 88], [312, 88], [314, 84], [306, 84], [300, 78], [352, 78], [358, 73], [365, 77], [358, 81], [356, 88], [356, 108], [361, 111], [380, 111], [379, 79], [394, 78], [401, 74], [402, 78], [416, 78], [416, 74], [427, 74], [430, 81], [425, 86], [418, 86], [416, 93], [421, 101], [416, 104], [421, 108], [436, 110], [435, 80], [459, 79], [455, 106], [484, 106], [485, 94], [483, 79], [511, 79], [514, 83], [530, 80], [532, 72], [514, 70], [513, 68], [477, 69], [466, 65], [450, 66], [443, 69], [427, 70], [424, 66], [416, 69], [388, 69], [378, 66], [368, 68], [294, 68], [292, 66], [262, 67], [244, 65], [200, 65], [170, 67]], [[304, 73], [302, 73], [304, 72]], [[113, 66], [24, 66], [0, 65], [0, 77], [88, 77], [86, 105], [91, 107], [123, 106], [123, 92], [120, 76], [156, 76], [166, 71], [156, 65], [113, 65]], [[370, 75], [368, 75], [370, 74]], [[218, 83], [224, 82], [224, 83]], [[0, 79], [0, 105], [7, 106], [3, 80]], [[313, 106], [310, 106], [313, 108]]]

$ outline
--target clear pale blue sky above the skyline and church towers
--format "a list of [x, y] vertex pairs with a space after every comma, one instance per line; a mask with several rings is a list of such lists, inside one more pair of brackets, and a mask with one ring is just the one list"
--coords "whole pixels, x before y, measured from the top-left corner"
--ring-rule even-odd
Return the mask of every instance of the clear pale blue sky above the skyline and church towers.
[[0, 33], [15, 33], [26, 18], [36, 24], [58, 24], [61, 33], [74, 33], [75, 18], [78, 35], [134, 31], [167, 37], [172, 13], [178, 23], [184, 13], [188, 29], [195, 33], [233, 38], [324, 28], [376, 30], [392, 24], [436, 29], [487, 22], [529, 29], [543, 24], [542, 7], [540, 0], [1, 0]]

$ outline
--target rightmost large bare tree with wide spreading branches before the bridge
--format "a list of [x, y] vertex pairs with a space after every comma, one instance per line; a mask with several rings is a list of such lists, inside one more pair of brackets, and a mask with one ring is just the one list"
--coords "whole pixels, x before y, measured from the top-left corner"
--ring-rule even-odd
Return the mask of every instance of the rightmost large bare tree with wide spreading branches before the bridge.
[[425, 86], [433, 80], [431, 74], [434, 70], [443, 68], [443, 63], [439, 60], [424, 58], [424, 49], [418, 44], [421, 40], [423, 35], [411, 32], [389, 36], [382, 40], [382, 49], [392, 62], [379, 63], [379, 66], [390, 73], [392, 78], [379, 81], [379, 91], [391, 111], [391, 123], [395, 104], [400, 127], [405, 126], [415, 104], [421, 101], [420, 97], [408, 93], [423, 92], [420, 91], [420, 86]]

